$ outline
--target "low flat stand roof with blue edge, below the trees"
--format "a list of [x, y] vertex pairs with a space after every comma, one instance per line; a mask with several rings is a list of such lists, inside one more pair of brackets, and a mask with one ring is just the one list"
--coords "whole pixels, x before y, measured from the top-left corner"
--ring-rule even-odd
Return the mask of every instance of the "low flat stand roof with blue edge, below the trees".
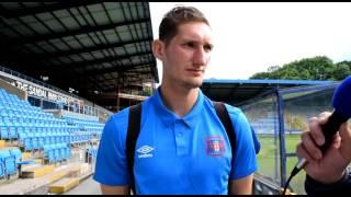
[[214, 101], [238, 105], [274, 89], [331, 83], [335, 81], [205, 79], [201, 89]]

